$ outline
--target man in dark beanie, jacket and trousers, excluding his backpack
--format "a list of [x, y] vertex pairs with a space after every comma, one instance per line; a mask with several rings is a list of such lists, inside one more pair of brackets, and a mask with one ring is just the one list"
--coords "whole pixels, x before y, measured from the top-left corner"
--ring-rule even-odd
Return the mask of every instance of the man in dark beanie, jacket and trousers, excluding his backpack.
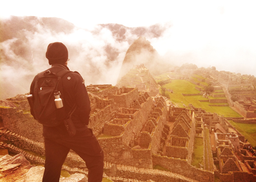
[[[49, 44], [46, 51], [46, 58], [51, 65], [50, 72], [57, 73], [67, 67], [68, 51], [64, 44], [55, 42]], [[34, 94], [35, 76], [31, 86], [30, 94]], [[43, 125], [43, 137], [45, 138], [45, 172], [43, 182], [59, 181], [62, 164], [65, 162], [69, 150], [75, 151], [89, 169], [88, 181], [102, 181], [103, 175], [103, 151], [98, 140], [91, 129], [87, 127], [90, 117], [90, 100], [83, 83], [82, 77], [75, 72], [67, 73], [62, 77], [63, 105], [69, 113], [74, 104], [77, 108], [71, 118], [77, 130], [73, 137], [67, 133], [64, 123], [56, 127]], [[36, 107], [36, 106], [34, 106]], [[31, 109], [31, 114], [33, 114]]]

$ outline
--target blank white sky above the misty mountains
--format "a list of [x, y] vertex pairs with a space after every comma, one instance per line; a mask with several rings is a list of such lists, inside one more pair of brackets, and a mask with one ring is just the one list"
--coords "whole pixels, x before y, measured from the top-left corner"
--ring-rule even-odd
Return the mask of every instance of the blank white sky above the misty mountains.
[[256, 1], [5, 1], [0, 17], [58, 17], [75, 26], [170, 25], [151, 39], [158, 53], [181, 63], [255, 75]]

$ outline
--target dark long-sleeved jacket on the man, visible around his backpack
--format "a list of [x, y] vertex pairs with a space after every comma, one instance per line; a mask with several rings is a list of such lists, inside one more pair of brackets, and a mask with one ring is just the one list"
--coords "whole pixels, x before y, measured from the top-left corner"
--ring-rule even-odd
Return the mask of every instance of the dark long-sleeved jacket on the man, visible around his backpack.
[[[51, 72], [58, 72], [61, 69], [68, 69], [64, 65], [55, 64], [52, 65], [49, 70]], [[48, 69], [47, 69], [48, 70]], [[38, 79], [38, 76], [34, 77], [33, 82], [30, 86], [30, 94], [34, 92], [35, 80]], [[63, 88], [63, 105], [65, 105], [66, 112], [69, 113], [72, 106], [76, 103], [77, 109], [75, 109], [72, 114], [72, 121], [77, 129], [77, 131], [83, 131], [86, 129], [86, 125], [89, 124], [90, 118], [90, 100], [89, 96], [83, 83], [83, 78], [79, 73], [70, 72], [62, 77], [62, 88]], [[33, 114], [33, 110], [31, 110]], [[64, 134], [67, 135], [64, 124], [57, 127], [47, 127], [43, 126], [43, 136], [44, 137], [55, 137], [55, 135]]]

